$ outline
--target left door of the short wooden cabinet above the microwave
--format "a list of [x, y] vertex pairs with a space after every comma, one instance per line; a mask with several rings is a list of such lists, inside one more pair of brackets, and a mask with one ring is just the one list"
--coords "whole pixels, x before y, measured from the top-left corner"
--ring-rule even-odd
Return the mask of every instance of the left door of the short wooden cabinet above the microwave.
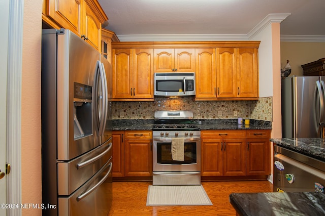
[[174, 72], [174, 49], [154, 49], [154, 72]]

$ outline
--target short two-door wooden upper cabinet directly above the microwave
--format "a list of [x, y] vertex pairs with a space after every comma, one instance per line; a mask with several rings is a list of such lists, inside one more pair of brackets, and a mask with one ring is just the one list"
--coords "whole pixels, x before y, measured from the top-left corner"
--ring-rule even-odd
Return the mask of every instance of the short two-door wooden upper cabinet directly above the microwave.
[[194, 72], [195, 49], [154, 49], [154, 72]]

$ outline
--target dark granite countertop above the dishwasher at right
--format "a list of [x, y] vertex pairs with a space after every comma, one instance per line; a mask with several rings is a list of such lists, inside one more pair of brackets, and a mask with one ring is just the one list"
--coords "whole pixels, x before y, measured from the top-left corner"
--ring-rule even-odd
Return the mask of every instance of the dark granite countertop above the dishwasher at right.
[[325, 139], [323, 138], [274, 138], [270, 141], [280, 147], [325, 161]]

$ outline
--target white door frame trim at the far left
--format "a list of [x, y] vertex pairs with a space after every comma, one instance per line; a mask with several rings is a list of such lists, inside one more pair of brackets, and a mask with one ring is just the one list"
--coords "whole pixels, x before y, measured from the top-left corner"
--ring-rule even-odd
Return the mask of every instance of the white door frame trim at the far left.
[[[8, 1], [8, 0], [7, 0]], [[10, 1], [7, 72], [7, 203], [21, 203], [21, 77], [24, 0]], [[8, 216], [21, 215], [21, 209], [8, 209]]]

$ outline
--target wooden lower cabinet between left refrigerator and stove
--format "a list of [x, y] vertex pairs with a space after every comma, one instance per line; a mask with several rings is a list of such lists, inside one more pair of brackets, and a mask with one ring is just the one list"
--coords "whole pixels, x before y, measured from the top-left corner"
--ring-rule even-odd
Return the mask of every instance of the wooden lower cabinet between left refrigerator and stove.
[[113, 177], [152, 176], [152, 132], [113, 131]]

